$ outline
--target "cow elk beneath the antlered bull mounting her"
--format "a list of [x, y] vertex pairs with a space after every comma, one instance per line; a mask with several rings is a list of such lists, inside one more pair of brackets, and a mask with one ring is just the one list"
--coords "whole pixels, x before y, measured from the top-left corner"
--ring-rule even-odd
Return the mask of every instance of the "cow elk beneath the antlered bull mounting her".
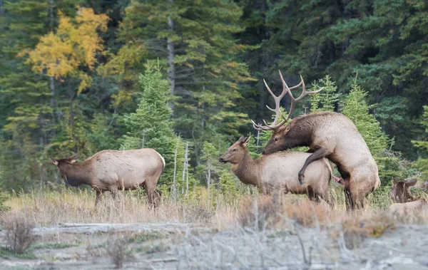
[[328, 184], [332, 169], [326, 159], [320, 159], [307, 168], [307, 181], [300, 185], [297, 172], [310, 155], [305, 152], [277, 152], [262, 156], [257, 160], [248, 153], [247, 144], [250, 137], [244, 136], [229, 147], [218, 161], [230, 162], [233, 173], [246, 185], [254, 185], [263, 192], [281, 190], [285, 193], [307, 194], [312, 200], [327, 200]]

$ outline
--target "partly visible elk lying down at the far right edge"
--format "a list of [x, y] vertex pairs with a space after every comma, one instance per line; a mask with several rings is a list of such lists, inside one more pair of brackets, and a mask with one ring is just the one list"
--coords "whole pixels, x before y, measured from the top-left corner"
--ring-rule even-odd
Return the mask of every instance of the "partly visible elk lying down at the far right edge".
[[415, 199], [409, 191], [409, 187], [417, 183], [416, 179], [407, 181], [392, 180], [392, 188], [389, 195], [394, 199], [394, 204], [389, 206], [389, 212], [392, 214], [419, 214], [428, 209], [428, 203], [425, 199]]

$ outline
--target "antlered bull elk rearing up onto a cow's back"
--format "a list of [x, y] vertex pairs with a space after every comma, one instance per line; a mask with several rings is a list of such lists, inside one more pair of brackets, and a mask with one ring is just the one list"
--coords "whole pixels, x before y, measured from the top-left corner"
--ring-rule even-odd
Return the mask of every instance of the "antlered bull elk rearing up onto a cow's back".
[[[294, 118], [285, 125], [290, 119], [297, 101], [305, 95], [320, 92], [322, 88], [307, 92], [302, 76], [300, 76], [301, 81], [298, 85], [289, 88], [281, 73], [280, 78], [282, 93], [279, 96], [275, 96], [265, 82], [267, 90], [275, 99], [275, 110], [267, 107], [275, 111], [275, 120], [270, 125], [265, 121], [265, 125], [257, 125], [253, 121], [256, 130], [272, 130], [272, 137], [267, 142], [263, 153], [270, 155], [292, 147], [310, 147], [312, 155], [307, 157], [305, 164], [298, 172], [300, 183], [305, 181], [305, 170], [311, 162], [327, 157], [337, 165], [342, 176], [347, 208], [362, 207], [364, 198], [380, 186], [377, 164], [374, 162], [365, 140], [361, 137], [352, 120], [341, 113], [310, 113]], [[294, 98], [291, 90], [300, 87], [300, 85], [302, 85], [302, 94], [298, 98]], [[281, 116], [280, 100], [286, 93], [291, 98], [290, 111], [286, 118], [282, 116], [284, 119], [277, 123]]]

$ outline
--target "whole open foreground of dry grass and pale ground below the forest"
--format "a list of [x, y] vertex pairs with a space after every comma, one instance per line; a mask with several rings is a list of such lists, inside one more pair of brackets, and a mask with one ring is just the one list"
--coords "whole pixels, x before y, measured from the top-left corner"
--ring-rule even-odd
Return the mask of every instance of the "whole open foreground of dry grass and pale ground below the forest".
[[[106, 269], [112, 264], [210, 269], [213, 263], [220, 268], [341, 269], [349, 264], [349, 256], [360, 254], [361, 259], [352, 261], [355, 269], [367, 260], [382, 266], [389, 262], [376, 261], [377, 254], [394, 261], [389, 248], [402, 254], [394, 243], [402, 243], [404, 249], [423, 246], [420, 237], [428, 231], [428, 212], [390, 214], [388, 192], [377, 190], [365, 208], [355, 212], [346, 211], [343, 192], [334, 185], [332, 204], [292, 194], [209, 196], [199, 189], [179, 200], [164, 195], [156, 210], [148, 208], [141, 192], [121, 192], [117, 200], [106, 193], [96, 209], [95, 194], [87, 189], [12, 194], [6, 202], [9, 211], [1, 215], [0, 264], [24, 269]], [[417, 230], [418, 237], [408, 234]], [[13, 251], [14, 239], [26, 244], [25, 251]], [[379, 243], [383, 247], [376, 246]], [[424, 256], [408, 253], [412, 260]], [[411, 265], [420, 266], [415, 260]]]

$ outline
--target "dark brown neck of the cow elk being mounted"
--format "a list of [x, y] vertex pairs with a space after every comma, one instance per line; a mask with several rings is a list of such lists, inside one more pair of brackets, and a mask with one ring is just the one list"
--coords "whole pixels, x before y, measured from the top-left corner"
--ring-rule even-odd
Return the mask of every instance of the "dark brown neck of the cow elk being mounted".
[[244, 184], [261, 188], [259, 163], [258, 160], [253, 160], [248, 150], [245, 150], [243, 160], [233, 164], [232, 171]]

